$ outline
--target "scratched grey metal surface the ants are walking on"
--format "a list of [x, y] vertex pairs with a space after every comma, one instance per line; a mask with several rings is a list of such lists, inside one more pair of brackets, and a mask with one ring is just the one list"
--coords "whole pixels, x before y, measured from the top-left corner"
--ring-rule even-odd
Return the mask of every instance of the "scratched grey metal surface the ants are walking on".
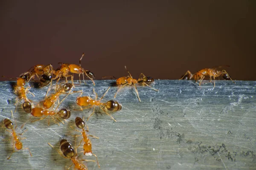
[[[104, 94], [113, 80], [96, 80], [95, 91], [99, 97]], [[15, 109], [15, 94], [10, 82], [0, 82], [0, 121], [11, 118]], [[256, 169], [256, 82], [255, 81], [216, 81], [201, 87], [193, 81], [156, 80], [153, 91], [148, 87], [138, 87], [142, 102], [138, 102], [134, 88], [126, 87], [116, 97], [122, 103], [122, 110], [113, 113], [117, 122], [100, 109], [96, 109], [87, 125], [89, 134], [98, 136], [92, 139], [93, 152], [98, 156], [102, 170], [165, 170], [165, 169]], [[83, 96], [93, 94], [91, 82], [76, 85], [75, 90], [84, 91]], [[29, 99], [38, 102], [44, 99], [47, 88], [30, 91]], [[117, 90], [113, 86], [104, 102], [113, 99]], [[0, 167], [9, 169], [65, 169], [69, 159], [62, 158], [47, 142], [59, 146], [61, 139], [75, 145], [74, 137], [79, 134], [70, 128], [75, 127], [76, 116], [87, 116], [92, 109], [74, 111], [76, 97], [70, 94], [59, 108], [70, 108], [72, 116], [60, 126], [48, 120], [31, 123], [30, 114], [23, 112], [20, 104], [14, 119], [17, 132], [28, 129], [23, 137], [23, 147], [6, 160], [12, 152], [10, 134], [2, 127], [0, 141]], [[62, 99], [64, 96], [61, 96]], [[12, 119], [13, 120], [13, 119]], [[23, 129], [20, 125], [27, 122]], [[72, 131], [72, 132], [70, 132]], [[78, 137], [80, 141], [80, 137]], [[77, 143], [78, 143], [77, 140]], [[82, 147], [78, 148], [81, 151]], [[93, 156], [79, 159], [95, 160]], [[85, 162], [89, 170], [99, 169], [95, 162]], [[73, 167], [71, 168], [73, 169]]]

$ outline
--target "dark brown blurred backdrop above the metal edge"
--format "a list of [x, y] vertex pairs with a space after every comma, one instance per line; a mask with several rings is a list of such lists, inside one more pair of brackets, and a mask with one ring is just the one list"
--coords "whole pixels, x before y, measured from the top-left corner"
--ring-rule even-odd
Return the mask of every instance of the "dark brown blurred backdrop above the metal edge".
[[230, 65], [233, 79], [256, 80], [255, 16], [255, 0], [1, 1], [0, 74], [79, 64], [84, 52], [96, 79], [126, 76], [125, 65], [155, 79]]

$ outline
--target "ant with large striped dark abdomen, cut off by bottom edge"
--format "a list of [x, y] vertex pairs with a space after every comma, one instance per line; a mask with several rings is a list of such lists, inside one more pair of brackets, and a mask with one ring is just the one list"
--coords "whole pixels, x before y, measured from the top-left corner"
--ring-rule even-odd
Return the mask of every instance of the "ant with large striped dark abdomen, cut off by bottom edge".
[[[49, 144], [49, 143], [48, 143]], [[51, 144], [49, 144], [50, 147], [54, 148]], [[60, 142], [61, 152], [58, 150], [58, 153], [66, 159], [70, 159], [73, 163], [67, 168], [69, 169], [73, 164], [75, 165], [74, 169], [77, 170], [88, 170], [87, 167], [84, 164], [80, 164], [77, 160], [77, 152], [74, 150], [72, 144], [68, 142], [66, 139], [62, 139]], [[82, 159], [80, 161], [93, 161], [93, 160], [86, 160]]]

